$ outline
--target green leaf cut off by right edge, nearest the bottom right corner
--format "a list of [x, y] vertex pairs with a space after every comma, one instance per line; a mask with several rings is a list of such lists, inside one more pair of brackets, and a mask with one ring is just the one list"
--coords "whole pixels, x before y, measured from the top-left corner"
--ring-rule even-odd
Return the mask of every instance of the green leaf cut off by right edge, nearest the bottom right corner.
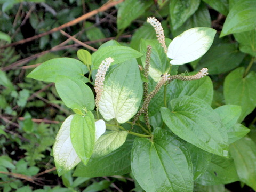
[[256, 190], [256, 144], [244, 137], [230, 145], [230, 153], [240, 180]]

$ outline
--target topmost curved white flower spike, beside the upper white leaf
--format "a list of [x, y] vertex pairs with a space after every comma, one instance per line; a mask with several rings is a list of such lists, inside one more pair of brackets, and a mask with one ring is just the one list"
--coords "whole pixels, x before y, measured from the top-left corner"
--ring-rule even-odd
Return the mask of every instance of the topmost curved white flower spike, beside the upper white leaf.
[[154, 17], [149, 17], [147, 19], [147, 22], [150, 23], [151, 26], [154, 27], [156, 31], [156, 37], [159, 43], [161, 43], [161, 46], [164, 48], [164, 52], [167, 53], [167, 47], [165, 45], [165, 37], [164, 37], [164, 29], [161, 25], [161, 22], [159, 22], [156, 18]]

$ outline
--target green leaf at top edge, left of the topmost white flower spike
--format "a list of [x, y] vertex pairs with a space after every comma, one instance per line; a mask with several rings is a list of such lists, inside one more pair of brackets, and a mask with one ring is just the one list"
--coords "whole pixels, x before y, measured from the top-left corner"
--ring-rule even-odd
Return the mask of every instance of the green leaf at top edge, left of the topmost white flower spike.
[[153, 4], [152, 1], [126, 0], [121, 4], [117, 12], [117, 29], [125, 29], [132, 21], [143, 15]]

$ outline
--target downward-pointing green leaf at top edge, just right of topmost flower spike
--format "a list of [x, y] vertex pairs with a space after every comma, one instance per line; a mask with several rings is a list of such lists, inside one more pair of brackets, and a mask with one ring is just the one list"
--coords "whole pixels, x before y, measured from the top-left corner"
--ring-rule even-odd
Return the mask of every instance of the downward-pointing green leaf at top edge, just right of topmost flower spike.
[[175, 30], [195, 13], [200, 4], [199, 0], [173, 0], [170, 2], [172, 28]]

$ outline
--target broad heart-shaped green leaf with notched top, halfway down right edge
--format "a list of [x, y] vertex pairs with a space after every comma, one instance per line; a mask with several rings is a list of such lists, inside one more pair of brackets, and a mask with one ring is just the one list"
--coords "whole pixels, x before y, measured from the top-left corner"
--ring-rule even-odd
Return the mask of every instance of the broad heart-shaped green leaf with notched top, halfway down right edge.
[[224, 82], [226, 104], [242, 107], [238, 122], [241, 122], [256, 107], [256, 74], [251, 71], [246, 77], [243, 77], [244, 71], [243, 67], [235, 69], [228, 74]]

